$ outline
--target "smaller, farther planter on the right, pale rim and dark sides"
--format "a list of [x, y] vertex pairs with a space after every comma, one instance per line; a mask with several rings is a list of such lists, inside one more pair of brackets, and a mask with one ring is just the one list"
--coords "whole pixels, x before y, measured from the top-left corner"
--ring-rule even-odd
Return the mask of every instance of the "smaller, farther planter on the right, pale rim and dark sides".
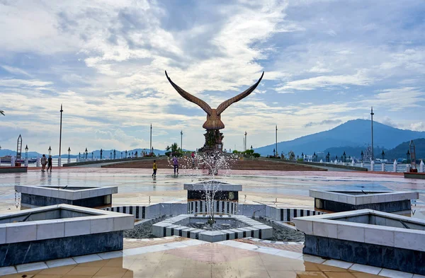
[[409, 214], [411, 200], [419, 199], [418, 192], [397, 191], [324, 191], [310, 190], [314, 207], [329, 212], [346, 212], [356, 209], [375, 209], [381, 212]]

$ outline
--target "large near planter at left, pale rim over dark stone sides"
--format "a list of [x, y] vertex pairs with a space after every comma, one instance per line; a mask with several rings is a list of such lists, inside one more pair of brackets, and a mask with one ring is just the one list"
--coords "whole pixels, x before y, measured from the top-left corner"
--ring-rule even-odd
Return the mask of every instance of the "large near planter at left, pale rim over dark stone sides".
[[0, 267], [123, 249], [134, 216], [69, 204], [0, 216]]

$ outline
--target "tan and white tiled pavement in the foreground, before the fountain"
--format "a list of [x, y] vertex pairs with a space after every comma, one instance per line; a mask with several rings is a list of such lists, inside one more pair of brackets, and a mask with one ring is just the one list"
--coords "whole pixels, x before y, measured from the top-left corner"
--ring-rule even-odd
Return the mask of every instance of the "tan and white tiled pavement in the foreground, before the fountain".
[[[164, 243], [174, 239], [172, 243]], [[137, 242], [137, 241], [133, 241]], [[140, 241], [142, 242], [142, 241]], [[205, 243], [166, 238], [123, 251], [0, 268], [13, 278], [290, 277], [372, 278], [422, 276], [302, 255], [240, 241]], [[284, 245], [284, 244], [280, 244]], [[16, 273], [18, 270], [18, 273]]]

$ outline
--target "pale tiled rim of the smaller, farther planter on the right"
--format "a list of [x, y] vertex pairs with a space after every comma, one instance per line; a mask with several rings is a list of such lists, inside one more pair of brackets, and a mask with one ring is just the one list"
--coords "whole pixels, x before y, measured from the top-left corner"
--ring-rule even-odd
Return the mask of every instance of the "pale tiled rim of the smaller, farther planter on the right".
[[[419, 199], [419, 192], [412, 191], [370, 191], [363, 190], [368, 194], [353, 195], [350, 192], [362, 192], [361, 190], [309, 190], [310, 197], [326, 199], [346, 204], [373, 204], [384, 202], [396, 202], [403, 200]], [[345, 192], [345, 193], [343, 193]]]

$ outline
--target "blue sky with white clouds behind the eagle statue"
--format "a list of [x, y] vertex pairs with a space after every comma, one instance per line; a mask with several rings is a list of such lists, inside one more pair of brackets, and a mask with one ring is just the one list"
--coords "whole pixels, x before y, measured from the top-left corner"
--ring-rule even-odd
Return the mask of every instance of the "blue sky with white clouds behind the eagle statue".
[[[0, 0], [0, 145], [62, 152], [203, 145], [222, 114], [225, 148], [295, 139], [347, 120], [425, 130], [425, 2]], [[179, 143], [180, 144], [180, 143]]]

